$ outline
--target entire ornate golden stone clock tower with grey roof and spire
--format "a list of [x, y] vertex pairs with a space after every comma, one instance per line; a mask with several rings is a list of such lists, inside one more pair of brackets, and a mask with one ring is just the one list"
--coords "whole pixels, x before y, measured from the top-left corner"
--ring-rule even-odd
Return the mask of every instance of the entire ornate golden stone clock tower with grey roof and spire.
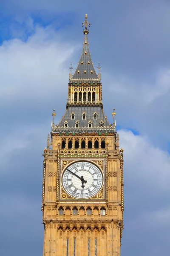
[[[123, 230], [123, 149], [115, 112], [103, 112], [102, 83], [88, 46], [87, 15], [82, 54], [68, 83], [61, 121], [44, 150], [42, 212], [44, 256], [120, 256]], [[70, 67], [72, 70], [72, 67]]]

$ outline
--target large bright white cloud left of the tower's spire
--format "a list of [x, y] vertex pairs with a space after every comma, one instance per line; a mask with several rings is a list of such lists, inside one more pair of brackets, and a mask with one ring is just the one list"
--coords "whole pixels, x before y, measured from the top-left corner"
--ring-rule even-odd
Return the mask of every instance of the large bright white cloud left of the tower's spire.
[[[50, 26], [37, 26], [26, 42], [13, 39], [0, 46], [0, 99], [11, 104], [13, 100], [50, 100], [61, 84], [68, 83], [65, 61], [76, 45], [62, 41]], [[6, 102], [7, 103], [7, 102]]]

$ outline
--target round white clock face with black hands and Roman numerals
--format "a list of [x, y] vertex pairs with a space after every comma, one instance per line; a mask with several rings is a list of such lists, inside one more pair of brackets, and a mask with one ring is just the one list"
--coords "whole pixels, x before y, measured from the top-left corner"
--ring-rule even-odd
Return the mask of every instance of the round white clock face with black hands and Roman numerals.
[[91, 162], [73, 163], [62, 174], [62, 186], [74, 198], [90, 198], [96, 195], [102, 183], [102, 172]]

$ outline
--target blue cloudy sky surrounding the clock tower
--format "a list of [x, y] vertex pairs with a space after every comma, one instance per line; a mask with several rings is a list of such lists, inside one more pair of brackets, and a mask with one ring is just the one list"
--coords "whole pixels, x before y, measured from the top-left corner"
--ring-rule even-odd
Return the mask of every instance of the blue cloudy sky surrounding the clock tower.
[[170, 251], [170, 1], [0, 0], [0, 248], [41, 256], [43, 149], [65, 112], [82, 22], [124, 149], [121, 256]]

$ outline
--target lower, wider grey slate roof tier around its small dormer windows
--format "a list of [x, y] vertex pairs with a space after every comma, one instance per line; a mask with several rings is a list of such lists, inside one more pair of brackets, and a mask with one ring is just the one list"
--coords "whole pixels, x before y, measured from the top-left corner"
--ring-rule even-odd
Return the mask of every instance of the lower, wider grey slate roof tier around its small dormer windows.
[[[75, 114], [75, 119], [71, 119], [71, 114]], [[86, 120], [82, 119], [82, 114], [86, 114]], [[94, 119], [94, 113], [97, 114], [97, 119]], [[101, 107], [69, 107], [65, 115], [62, 117], [62, 120], [59, 122], [59, 127], [64, 127], [65, 121], [68, 122], [68, 127], [75, 127], [75, 122], [79, 121], [79, 127], [87, 127], [88, 122], [92, 122], [93, 127], [99, 127], [100, 121], [103, 122], [103, 126], [107, 127], [110, 126], [109, 122], [107, 121], [104, 112], [102, 111]]]

